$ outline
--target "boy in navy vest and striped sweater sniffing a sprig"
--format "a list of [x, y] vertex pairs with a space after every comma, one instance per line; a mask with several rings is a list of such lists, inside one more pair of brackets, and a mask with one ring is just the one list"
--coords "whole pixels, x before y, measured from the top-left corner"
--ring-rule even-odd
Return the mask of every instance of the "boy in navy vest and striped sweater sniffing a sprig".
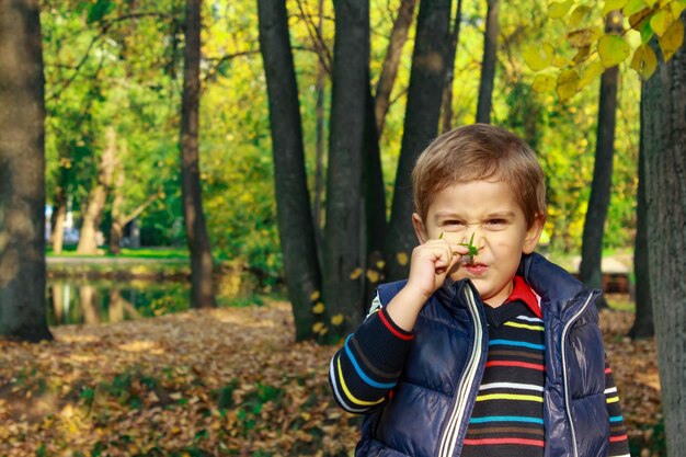
[[[517, 136], [448, 132], [412, 174], [420, 244], [333, 356], [356, 456], [629, 456], [588, 292], [534, 253], [544, 173]], [[471, 247], [470, 247], [471, 244]]]

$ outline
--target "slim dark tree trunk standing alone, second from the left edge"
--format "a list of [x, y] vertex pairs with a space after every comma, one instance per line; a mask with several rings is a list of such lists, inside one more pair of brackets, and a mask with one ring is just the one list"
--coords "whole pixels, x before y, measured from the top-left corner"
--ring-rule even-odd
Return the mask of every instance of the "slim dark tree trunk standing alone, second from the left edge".
[[201, 3], [186, 1], [183, 95], [181, 102], [181, 188], [186, 241], [191, 255], [191, 306], [215, 307], [214, 261], [199, 178], [198, 110], [201, 67]]

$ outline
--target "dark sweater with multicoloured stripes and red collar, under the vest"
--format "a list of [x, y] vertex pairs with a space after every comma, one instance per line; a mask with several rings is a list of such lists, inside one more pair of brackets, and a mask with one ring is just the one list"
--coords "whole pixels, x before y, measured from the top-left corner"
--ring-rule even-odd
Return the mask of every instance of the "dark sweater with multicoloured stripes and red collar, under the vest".
[[[374, 311], [331, 359], [329, 380], [339, 404], [368, 412], [392, 398], [413, 334], [396, 325], [375, 299]], [[544, 455], [544, 327], [534, 294], [515, 281], [508, 301], [484, 306], [488, 358], [461, 457]], [[609, 456], [629, 456], [617, 388], [606, 362]]]

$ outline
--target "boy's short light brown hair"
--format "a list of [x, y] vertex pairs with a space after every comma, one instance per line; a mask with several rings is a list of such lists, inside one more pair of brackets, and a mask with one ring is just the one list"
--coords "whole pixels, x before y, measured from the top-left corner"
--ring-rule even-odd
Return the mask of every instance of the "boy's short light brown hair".
[[522, 138], [490, 124], [455, 128], [424, 149], [412, 171], [414, 210], [426, 220], [436, 193], [470, 181], [507, 183], [528, 227], [546, 216], [546, 182], [536, 155]]

